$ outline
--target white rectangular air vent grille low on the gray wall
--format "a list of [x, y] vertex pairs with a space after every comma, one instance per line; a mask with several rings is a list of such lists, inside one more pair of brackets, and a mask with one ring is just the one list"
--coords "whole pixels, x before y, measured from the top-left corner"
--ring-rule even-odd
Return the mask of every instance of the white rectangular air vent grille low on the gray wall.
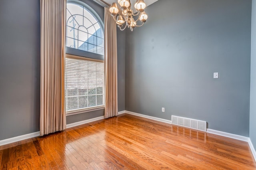
[[189, 119], [185, 117], [172, 116], [172, 124], [206, 132], [206, 121]]

